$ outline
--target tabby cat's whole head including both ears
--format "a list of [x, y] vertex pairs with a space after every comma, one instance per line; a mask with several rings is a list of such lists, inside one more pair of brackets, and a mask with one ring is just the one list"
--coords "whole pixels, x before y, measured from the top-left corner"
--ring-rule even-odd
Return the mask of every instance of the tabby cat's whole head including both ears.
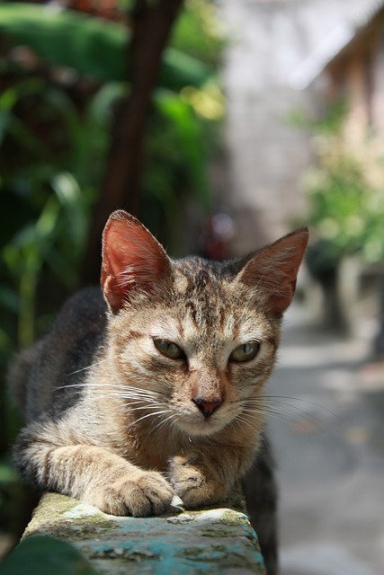
[[307, 242], [303, 228], [243, 259], [172, 261], [135, 217], [114, 212], [101, 283], [132, 405], [189, 435], [262, 419], [263, 383]]

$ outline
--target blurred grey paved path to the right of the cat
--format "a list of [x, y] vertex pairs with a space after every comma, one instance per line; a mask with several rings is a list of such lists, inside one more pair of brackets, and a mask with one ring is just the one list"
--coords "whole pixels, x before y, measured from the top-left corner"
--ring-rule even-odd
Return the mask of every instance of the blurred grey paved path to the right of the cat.
[[384, 363], [369, 352], [297, 305], [286, 316], [268, 389], [285, 412], [270, 418], [281, 575], [384, 574]]

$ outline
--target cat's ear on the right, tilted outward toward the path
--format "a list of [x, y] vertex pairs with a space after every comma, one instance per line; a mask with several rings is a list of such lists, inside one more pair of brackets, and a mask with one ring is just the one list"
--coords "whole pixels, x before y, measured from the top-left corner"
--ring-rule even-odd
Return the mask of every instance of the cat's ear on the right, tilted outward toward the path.
[[237, 275], [247, 286], [263, 290], [272, 314], [290, 305], [307, 243], [308, 229], [300, 228], [255, 252]]

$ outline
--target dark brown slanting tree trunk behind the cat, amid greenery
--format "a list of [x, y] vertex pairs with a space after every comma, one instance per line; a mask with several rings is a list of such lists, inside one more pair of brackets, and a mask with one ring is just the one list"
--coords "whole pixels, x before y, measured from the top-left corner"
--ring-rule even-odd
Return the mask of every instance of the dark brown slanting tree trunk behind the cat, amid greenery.
[[99, 281], [103, 226], [111, 212], [123, 208], [139, 215], [147, 107], [166, 41], [182, 4], [183, 0], [157, 0], [156, 4], [137, 0], [132, 13], [128, 54], [132, 63], [131, 92], [121, 102], [112, 130], [109, 161], [85, 251], [83, 284]]

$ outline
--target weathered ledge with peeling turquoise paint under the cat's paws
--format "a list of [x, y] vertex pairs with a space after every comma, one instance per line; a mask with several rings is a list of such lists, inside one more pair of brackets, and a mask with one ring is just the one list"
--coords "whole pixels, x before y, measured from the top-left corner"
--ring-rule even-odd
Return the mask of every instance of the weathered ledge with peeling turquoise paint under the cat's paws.
[[239, 493], [219, 507], [185, 511], [176, 498], [160, 517], [114, 517], [47, 493], [23, 537], [50, 535], [74, 544], [110, 575], [265, 575], [255, 531]]

